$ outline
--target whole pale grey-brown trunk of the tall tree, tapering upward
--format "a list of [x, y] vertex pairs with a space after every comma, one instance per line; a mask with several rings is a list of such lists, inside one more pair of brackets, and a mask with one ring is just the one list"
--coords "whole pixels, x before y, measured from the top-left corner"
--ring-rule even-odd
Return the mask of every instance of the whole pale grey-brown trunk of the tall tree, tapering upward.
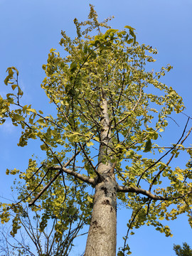
[[110, 118], [107, 100], [102, 95], [102, 119], [100, 151], [97, 168], [97, 185], [92, 210], [90, 230], [84, 256], [115, 256], [117, 235], [117, 183], [114, 166], [106, 156], [111, 153]]

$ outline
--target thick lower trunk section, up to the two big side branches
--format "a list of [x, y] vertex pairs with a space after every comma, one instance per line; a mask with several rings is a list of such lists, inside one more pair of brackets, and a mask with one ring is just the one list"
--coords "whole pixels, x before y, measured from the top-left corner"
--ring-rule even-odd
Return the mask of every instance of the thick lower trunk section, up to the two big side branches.
[[108, 174], [95, 187], [92, 219], [84, 256], [115, 256], [117, 235], [116, 181]]

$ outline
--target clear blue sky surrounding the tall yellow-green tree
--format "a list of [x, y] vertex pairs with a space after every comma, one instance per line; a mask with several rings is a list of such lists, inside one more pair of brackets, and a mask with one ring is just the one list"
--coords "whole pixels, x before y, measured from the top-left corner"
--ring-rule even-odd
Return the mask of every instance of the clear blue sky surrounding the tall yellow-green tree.
[[[36, 109], [44, 110], [46, 107], [47, 112], [50, 112], [45, 93], [40, 87], [45, 77], [41, 67], [46, 63], [50, 48], [62, 52], [58, 45], [61, 30], [69, 36], [75, 35], [73, 19], [85, 20], [89, 4], [95, 5], [100, 20], [113, 15], [113, 28], [132, 26], [136, 28], [139, 43], [157, 48], [159, 55], [154, 68], [161, 68], [168, 63], [174, 66], [164, 77], [164, 82], [183, 97], [185, 113], [191, 115], [192, 0], [0, 0], [0, 95], [4, 96], [9, 91], [3, 82], [6, 68], [16, 66], [24, 91], [23, 105], [32, 103]], [[186, 119], [181, 114], [176, 119], [180, 129], [173, 124], [173, 129], [166, 137], [166, 145], [176, 142], [181, 136]], [[20, 132], [9, 122], [0, 127], [0, 196], [5, 198], [11, 198], [9, 187], [13, 181], [5, 175], [6, 168], [25, 169], [31, 154], [38, 155], [39, 152], [37, 142], [30, 142], [26, 148], [16, 146]], [[43, 156], [40, 154], [39, 157], [41, 159]], [[120, 235], [126, 233], [126, 226], [122, 225], [121, 220], [129, 218], [129, 213], [124, 210], [118, 214], [117, 247], [122, 242]], [[170, 256], [174, 255], [174, 243], [186, 241], [192, 245], [191, 228], [185, 216], [166, 225], [171, 227], [173, 238], [166, 238], [151, 227], [136, 230], [129, 240], [132, 255]]]

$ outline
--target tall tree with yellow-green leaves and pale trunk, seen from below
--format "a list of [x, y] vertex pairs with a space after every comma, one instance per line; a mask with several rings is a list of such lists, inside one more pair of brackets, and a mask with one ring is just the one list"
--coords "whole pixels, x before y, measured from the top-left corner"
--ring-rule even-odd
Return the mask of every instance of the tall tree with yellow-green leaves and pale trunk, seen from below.
[[[133, 228], [154, 225], [169, 236], [169, 226], [161, 220], [173, 220], [181, 213], [187, 213], [191, 224], [192, 149], [183, 146], [191, 133], [190, 118], [178, 142], [170, 147], [156, 144], [161, 143], [171, 113], [184, 109], [176, 91], [160, 81], [172, 67], [147, 71], [157, 50], [139, 46], [131, 26], [119, 31], [107, 25], [109, 20], [99, 22], [90, 6], [88, 21], [74, 20], [75, 39], [61, 33], [66, 55], [50, 50], [41, 87], [55, 114], [44, 116], [42, 110], [21, 104], [23, 92], [14, 67], [8, 68], [5, 84], [11, 83], [16, 93], [0, 100], [1, 123], [11, 118], [23, 129], [18, 146], [40, 139], [41, 150], [46, 151], [41, 164], [29, 160], [26, 172], [7, 171], [19, 174], [26, 185], [21, 201], [32, 210], [44, 210], [45, 225], [49, 208], [60, 220], [76, 213], [77, 219], [90, 225], [86, 256], [116, 254], [117, 201], [132, 209], [119, 256], [131, 253], [127, 238]], [[95, 29], [97, 36], [92, 36]], [[171, 168], [181, 151], [189, 156], [186, 169]], [[95, 188], [94, 197], [90, 187]], [[11, 210], [19, 211], [20, 204], [3, 205], [1, 221], [9, 221]], [[14, 223], [18, 223], [15, 218]], [[68, 225], [58, 223], [55, 228], [63, 233]]]

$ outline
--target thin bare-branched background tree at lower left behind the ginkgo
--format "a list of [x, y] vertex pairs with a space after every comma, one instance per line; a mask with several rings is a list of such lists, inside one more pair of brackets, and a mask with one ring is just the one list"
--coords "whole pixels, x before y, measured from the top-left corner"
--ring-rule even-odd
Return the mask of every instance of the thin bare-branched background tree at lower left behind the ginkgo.
[[[42, 208], [42, 202], [39, 203]], [[59, 208], [63, 211], [62, 205]], [[39, 256], [68, 255], [73, 247], [73, 240], [83, 226], [83, 220], [80, 218], [77, 220], [77, 214], [69, 216], [65, 213], [63, 219], [60, 218], [61, 213], [57, 216], [54, 213], [51, 206], [49, 210], [38, 209], [38, 212], [36, 209], [31, 211], [26, 203], [20, 204], [19, 209], [14, 208], [11, 214], [11, 232], [7, 225], [0, 230], [1, 255], [34, 256], [34, 251]], [[65, 228], [66, 226], [68, 229]]]

